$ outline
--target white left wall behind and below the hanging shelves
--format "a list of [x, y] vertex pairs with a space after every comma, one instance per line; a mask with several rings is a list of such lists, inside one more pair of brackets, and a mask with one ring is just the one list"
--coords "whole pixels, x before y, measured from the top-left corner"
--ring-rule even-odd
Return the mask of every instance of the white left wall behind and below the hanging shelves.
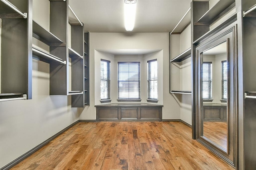
[[[33, 19], [49, 29], [49, 1], [33, 0]], [[33, 39], [33, 45], [49, 47]], [[49, 95], [49, 64], [33, 59], [32, 99], [0, 102], [0, 168], [78, 121], [71, 97]]]

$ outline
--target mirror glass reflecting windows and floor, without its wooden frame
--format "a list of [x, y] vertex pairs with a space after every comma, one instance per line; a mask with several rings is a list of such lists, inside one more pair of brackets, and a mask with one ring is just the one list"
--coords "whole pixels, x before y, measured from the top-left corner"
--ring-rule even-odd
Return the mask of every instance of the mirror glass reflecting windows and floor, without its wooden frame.
[[203, 136], [227, 152], [227, 43], [202, 53], [201, 111]]

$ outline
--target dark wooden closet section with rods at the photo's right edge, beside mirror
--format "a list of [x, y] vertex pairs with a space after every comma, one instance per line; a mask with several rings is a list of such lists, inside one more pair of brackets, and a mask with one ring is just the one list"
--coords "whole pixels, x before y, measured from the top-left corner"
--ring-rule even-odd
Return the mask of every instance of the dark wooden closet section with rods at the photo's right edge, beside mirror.
[[256, 1], [241, 0], [242, 2], [242, 71], [243, 71], [243, 91], [244, 96], [244, 165], [245, 169], [256, 168], [255, 146], [256, 141]]

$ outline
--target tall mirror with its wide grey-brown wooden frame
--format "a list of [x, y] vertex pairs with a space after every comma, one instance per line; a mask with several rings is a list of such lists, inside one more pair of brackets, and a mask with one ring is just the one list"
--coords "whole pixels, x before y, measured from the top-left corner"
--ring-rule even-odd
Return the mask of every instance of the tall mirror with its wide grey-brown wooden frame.
[[236, 166], [238, 158], [238, 72], [236, 26], [196, 44], [196, 139]]

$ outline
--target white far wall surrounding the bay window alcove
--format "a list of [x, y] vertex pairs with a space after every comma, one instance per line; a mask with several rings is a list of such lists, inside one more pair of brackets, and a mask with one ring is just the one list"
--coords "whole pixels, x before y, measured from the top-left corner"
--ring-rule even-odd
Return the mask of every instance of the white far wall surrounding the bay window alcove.
[[[147, 49], [162, 50], [162, 64], [159, 63], [158, 71], [162, 71], [163, 83], [163, 119], [180, 119], [180, 107], [174, 97], [169, 93], [169, 38], [168, 33], [90, 33], [90, 106], [86, 107], [80, 119], [95, 120], [99, 95], [96, 97], [95, 87], [98, 84], [98, 71], [95, 65], [99, 57], [97, 51], [111, 51], [116, 49]], [[109, 52], [110, 53], [110, 52]], [[158, 54], [157, 54], [158, 55]], [[143, 58], [143, 57], [142, 57]], [[142, 60], [143, 61], [143, 60]], [[160, 62], [160, 59], [158, 59]], [[95, 63], [96, 62], [96, 63]], [[96, 75], [97, 74], [97, 75]], [[96, 80], [97, 79], [97, 80]], [[96, 85], [96, 86], [95, 86]], [[117, 89], [111, 89], [116, 91]], [[113, 97], [115, 100], [116, 97]]]

